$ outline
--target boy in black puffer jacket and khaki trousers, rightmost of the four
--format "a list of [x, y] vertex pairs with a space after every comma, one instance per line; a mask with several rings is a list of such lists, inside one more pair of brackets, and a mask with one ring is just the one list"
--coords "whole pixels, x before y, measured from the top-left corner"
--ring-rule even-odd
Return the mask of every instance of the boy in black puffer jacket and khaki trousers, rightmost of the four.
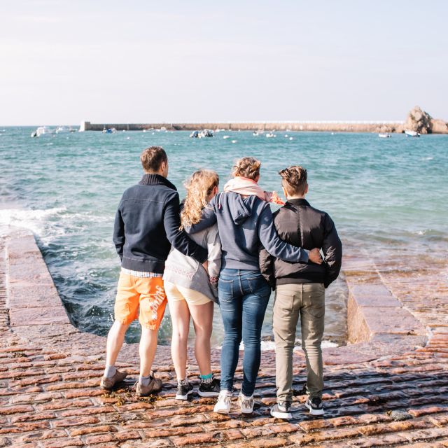
[[321, 248], [321, 265], [285, 262], [260, 252], [260, 269], [276, 288], [273, 329], [276, 346], [277, 404], [272, 416], [292, 418], [293, 349], [298, 318], [302, 327], [302, 349], [307, 360], [307, 394], [310, 414], [322, 415], [323, 362], [321, 342], [325, 314], [325, 288], [337, 279], [341, 269], [342, 244], [328, 214], [311, 207], [304, 199], [308, 192], [307, 170], [293, 166], [279, 172], [288, 202], [274, 213], [279, 237], [305, 249]]

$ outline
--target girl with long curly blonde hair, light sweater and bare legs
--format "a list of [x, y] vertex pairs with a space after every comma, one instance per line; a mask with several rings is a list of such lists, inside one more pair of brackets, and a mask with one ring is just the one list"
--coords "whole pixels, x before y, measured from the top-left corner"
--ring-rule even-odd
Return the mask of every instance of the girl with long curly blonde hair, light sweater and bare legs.
[[[209, 169], [200, 169], [186, 182], [187, 196], [181, 211], [181, 230], [200, 222], [202, 211], [218, 193], [219, 176]], [[193, 386], [186, 373], [187, 342], [190, 317], [195, 328], [195, 356], [200, 370], [198, 393], [202, 397], [219, 394], [219, 380], [211, 373], [210, 337], [213, 327], [214, 302], [218, 297], [218, 276], [221, 269], [221, 241], [216, 225], [191, 238], [208, 250], [208, 272], [194, 258], [176, 249], [169, 253], [163, 275], [169, 313], [172, 318], [172, 358], [178, 388], [176, 398], [187, 400]]]

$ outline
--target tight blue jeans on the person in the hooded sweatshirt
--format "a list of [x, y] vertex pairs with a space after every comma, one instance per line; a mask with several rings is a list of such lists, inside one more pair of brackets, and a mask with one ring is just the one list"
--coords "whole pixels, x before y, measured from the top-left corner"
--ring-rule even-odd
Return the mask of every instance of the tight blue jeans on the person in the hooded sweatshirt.
[[219, 275], [218, 296], [224, 323], [221, 350], [221, 390], [232, 391], [241, 338], [244, 342], [243, 385], [251, 396], [260, 368], [261, 327], [271, 288], [258, 270], [224, 268]]

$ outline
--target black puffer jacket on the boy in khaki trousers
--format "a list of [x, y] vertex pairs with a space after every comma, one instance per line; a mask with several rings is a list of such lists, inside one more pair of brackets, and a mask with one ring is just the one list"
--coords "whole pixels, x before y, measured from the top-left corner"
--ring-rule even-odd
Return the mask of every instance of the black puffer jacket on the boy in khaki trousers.
[[289, 200], [274, 213], [274, 225], [283, 241], [308, 250], [321, 248], [325, 262], [321, 265], [287, 262], [272, 257], [262, 248], [260, 270], [272, 288], [285, 283], [323, 283], [327, 288], [337, 279], [342, 243], [335, 223], [325, 211], [314, 209], [304, 199]]

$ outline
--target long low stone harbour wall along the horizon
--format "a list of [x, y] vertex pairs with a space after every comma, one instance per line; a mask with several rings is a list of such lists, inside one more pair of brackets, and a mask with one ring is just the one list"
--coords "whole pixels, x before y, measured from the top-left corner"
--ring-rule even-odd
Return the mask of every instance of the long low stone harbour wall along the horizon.
[[118, 131], [160, 130], [168, 131], [304, 131], [304, 132], [404, 132], [404, 122], [279, 122], [279, 123], [90, 123], [83, 121], [80, 132], [102, 131], [115, 127]]

